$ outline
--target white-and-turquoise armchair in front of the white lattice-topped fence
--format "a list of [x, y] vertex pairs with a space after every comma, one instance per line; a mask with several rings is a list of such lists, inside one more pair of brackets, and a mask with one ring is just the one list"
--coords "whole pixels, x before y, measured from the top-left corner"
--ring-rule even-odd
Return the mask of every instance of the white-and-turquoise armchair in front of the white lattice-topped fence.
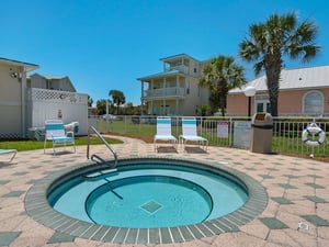
[[65, 132], [65, 126], [61, 120], [47, 120], [45, 122], [45, 144], [44, 144], [44, 153], [46, 154], [46, 145], [47, 141], [53, 142], [53, 153], [56, 155], [56, 146], [67, 144], [73, 146], [73, 150], [76, 153], [76, 143], [75, 143], [75, 133], [73, 132]]

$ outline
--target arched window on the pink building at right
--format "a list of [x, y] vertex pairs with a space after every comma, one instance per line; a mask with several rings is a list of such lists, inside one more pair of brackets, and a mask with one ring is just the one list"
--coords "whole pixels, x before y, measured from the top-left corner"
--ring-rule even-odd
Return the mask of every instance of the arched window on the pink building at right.
[[324, 113], [324, 94], [319, 91], [310, 91], [303, 99], [304, 114]]

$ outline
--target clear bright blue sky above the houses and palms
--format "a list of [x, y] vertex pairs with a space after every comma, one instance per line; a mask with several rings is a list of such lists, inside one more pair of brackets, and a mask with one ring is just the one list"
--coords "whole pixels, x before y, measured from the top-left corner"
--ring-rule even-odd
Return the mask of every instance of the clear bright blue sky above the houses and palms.
[[238, 45], [253, 23], [295, 12], [319, 27], [320, 54], [308, 64], [329, 65], [328, 0], [15, 0], [2, 1], [0, 57], [39, 66], [45, 76], [68, 76], [95, 103], [120, 90], [140, 104], [137, 78], [161, 72], [161, 58], [186, 54], [197, 60], [234, 56], [253, 79]]

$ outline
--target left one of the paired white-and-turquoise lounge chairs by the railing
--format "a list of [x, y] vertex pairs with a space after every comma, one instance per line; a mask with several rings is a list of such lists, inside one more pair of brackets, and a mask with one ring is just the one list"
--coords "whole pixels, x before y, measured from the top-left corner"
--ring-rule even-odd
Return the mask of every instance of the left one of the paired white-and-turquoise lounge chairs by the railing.
[[154, 139], [155, 151], [157, 151], [157, 141], [169, 141], [172, 143], [174, 149], [177, 149], [177, 138], [171, 134], [171, 117], [157, 117], [157, 134]]

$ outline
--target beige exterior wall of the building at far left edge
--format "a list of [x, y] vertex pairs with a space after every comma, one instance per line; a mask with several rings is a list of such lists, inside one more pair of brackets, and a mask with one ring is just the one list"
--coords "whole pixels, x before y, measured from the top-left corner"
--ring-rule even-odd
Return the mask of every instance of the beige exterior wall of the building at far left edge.
[[0, 138], [22, 135], [21, 82], [18, 77], [10, 76], [10, 71], [19, 69], [15, 66], [0, 66]]

